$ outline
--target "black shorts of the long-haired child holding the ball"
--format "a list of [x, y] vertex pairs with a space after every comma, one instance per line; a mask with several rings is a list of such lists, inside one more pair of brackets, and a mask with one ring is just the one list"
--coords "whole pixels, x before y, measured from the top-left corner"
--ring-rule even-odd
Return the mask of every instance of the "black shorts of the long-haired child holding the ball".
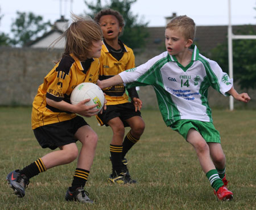
[[75, 143], [75, 133], [79, 128], [88, 125], [84, 118], [76, 116], [71, 120], [44, 125], [34, 129], [34, 135], [42, 148], [56, 149], [59, 146]]

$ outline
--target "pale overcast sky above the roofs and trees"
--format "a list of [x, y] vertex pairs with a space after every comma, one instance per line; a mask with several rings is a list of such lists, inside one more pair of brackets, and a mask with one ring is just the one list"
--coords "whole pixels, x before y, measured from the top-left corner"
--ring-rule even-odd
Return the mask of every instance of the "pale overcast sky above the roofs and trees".
[[[96, 2], [96, 0], [88, 0]], [[102, 5], [109, 0], [102, 0]], [[229, 0], [137, 0], [130, 11], [138, 15], [138, 22], [148, 22], [148, 27], [166, 26], [166, 17], [187, 15], [197, 26], [221, 26], [229, 23]], [[256, 24], [256, 0], [230, 0], [231, 23], [233, 25]], [[33, 12], [43, 16], [43, 21], [54, 23], [64, 15], [70, 19], [70, 12], [80, 15], [89, 11], [84, 0], [0, 0], [0, 32], [10, 33], [11, 23], [16, 18], [16, 11]]]

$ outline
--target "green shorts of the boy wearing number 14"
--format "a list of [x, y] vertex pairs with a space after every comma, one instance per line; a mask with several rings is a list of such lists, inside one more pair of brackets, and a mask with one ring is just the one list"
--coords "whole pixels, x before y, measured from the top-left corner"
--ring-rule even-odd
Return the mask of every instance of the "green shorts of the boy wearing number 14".
[[199, 120], [178, 120], [171, 125], [171, 129], [180, 133], [187, 140], [189, 129], [195, 129], [206, 142], [220, 143], [220, 133], [214, 128], [213, 123]]

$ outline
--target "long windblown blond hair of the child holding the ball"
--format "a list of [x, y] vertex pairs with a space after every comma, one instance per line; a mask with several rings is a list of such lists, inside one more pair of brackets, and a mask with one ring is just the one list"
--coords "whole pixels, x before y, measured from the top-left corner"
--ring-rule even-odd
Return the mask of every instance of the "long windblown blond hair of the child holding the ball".
[[[102, 39], [101, 27], [92, 18], [82, 18], [72, 14], [73, 23], [58, 39], [51, 44], [54, 45], [65, 37], [65, 51], [63, 56], [73, 54], [80, 61], [85, 61], [92, 48], [92, 41]], [[50, 46], [51, 46], [50, 45]]]

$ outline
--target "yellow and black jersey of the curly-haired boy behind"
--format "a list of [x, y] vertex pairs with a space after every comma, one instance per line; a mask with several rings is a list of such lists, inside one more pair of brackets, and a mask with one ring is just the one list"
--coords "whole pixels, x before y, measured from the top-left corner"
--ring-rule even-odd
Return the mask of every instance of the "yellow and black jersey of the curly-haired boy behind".
[[[135, 67], [135, 56], [133, 50], [127, 47], [119, 40], [119, 44], [122, 47], [121, 55], [118, 58], [113, 52], [110, 52], [108, 45], [103, 41], [100, 57], [100, 75], [99, 79], [104, 80], [114, 75], [117, 75], [127, 69]], [[129, 97], [125, 93], [125, 86], [123, 83], [111, 87], [107, 87], [103, 90], [106, 94], [107, 105], [115, 105], [129, 102]]]

